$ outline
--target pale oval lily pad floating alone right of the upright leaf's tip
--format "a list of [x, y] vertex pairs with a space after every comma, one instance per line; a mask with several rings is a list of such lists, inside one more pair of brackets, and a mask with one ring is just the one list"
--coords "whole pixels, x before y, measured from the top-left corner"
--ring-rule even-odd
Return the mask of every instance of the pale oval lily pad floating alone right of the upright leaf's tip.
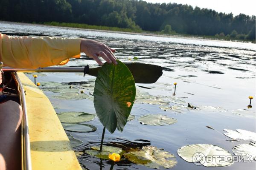
[[169, 118], [166, 115], [161, 114], [147, 114], [144, 116], [141, 116], [138, 121], [143, 125], [172, 125], [177, 122], [176, 119]]

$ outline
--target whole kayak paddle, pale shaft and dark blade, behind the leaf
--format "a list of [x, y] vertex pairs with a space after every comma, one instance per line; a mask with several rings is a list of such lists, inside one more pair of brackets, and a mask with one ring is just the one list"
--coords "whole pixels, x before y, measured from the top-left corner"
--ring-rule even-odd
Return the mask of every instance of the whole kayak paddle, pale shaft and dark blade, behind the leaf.
[[[152, 64], [144, 63], [125, 63], [125, 65], [131, 71], [134, 77], [135, 83], [154, 83], [159, 77], [162, 76], [162, 67]], [[89, 65], [85, 67], [45, 67], [45, 68], [10, 68], [3, 67], [4, 72], [71, 72], [71, 73], [84, 73], [97, 77], [100, 67], [89, 68]]]

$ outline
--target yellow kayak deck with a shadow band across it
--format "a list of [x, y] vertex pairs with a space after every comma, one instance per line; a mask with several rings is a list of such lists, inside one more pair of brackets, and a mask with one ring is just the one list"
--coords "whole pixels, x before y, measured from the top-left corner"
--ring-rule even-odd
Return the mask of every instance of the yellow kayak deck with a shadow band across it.
[[70, 141], [45, 94], [23, 73], [33, 170], [81, 170]]

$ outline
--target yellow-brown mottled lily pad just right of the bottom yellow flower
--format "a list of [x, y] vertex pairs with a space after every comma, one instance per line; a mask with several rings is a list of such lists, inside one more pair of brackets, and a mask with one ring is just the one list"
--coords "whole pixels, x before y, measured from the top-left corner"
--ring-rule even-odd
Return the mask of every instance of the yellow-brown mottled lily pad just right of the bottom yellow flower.
[[141, 164], [155, 169], [160, 167], [168, 169], [177, 164], [173, 154], [154, 146], [143, 146], [142, 150], [124, 153], [124, 157], [134, 164]]

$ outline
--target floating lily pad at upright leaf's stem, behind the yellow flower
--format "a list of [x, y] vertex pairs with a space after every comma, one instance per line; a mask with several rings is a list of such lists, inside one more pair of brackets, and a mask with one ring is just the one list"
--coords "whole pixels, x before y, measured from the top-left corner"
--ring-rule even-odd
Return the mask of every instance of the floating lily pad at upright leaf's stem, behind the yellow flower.
[[84, 152], [87, 153], [88, 155], [91, 156], [96, 156], [100, 159], [109, 159], [108, 155], [111, 153], [117, 153], [119, 155], [122, 155], [124, 152], [121, 148], [119, 147], [113, 147], [113, 146], [102, 146], [102, 152], [99, 152], [100, 146], [93, 146], [90, 147], [89, 150], [85, 150]]

